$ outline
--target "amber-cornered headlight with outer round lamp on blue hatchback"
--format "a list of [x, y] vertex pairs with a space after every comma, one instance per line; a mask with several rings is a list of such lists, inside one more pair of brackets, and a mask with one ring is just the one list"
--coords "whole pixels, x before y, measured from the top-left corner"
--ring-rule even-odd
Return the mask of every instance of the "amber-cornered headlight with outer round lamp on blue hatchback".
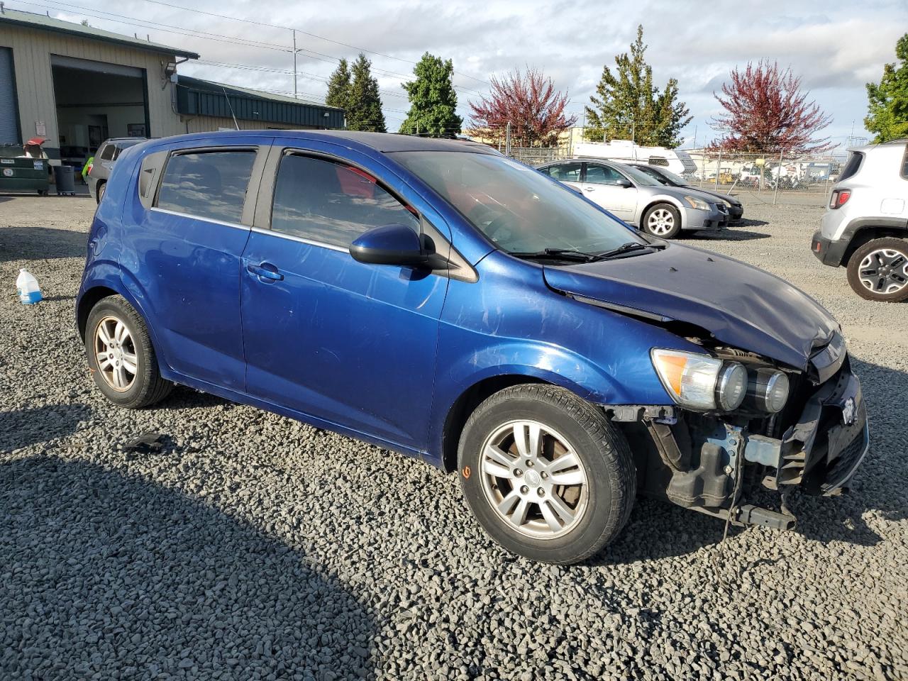
[[747, 370], [736, 361], [682, 350], [652, 350], [653, 366], [668, 394], [695, 410], [736, 410], [747, 391]]

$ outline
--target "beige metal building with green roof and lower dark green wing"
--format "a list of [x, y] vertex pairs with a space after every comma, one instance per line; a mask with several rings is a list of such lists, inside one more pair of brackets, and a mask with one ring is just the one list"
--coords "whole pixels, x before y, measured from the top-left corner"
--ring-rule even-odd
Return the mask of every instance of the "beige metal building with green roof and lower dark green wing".
[[343, 111], [178, 77], [199, 54], [0, 2], [0, 144], [44, 137], [77, 165], [108, 137], [221, 128], [341, 128]]

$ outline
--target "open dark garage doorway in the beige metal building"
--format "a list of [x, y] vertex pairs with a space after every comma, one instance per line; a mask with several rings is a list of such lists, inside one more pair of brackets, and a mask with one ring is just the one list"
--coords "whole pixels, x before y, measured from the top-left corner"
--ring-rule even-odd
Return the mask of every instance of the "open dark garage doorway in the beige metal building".
[[60, 157], [79, 169], [109, 137], [148, 135], [144, 69], [51, 56]]

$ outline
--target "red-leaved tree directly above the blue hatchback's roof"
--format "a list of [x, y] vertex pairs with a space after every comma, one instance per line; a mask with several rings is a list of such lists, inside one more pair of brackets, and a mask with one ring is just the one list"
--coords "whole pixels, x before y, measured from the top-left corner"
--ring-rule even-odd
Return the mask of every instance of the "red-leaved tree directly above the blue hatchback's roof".
[[525, 74], [519, 69], [498, 79], [492, 76], [488, 97], [469, 103], [472, 110], [471, 133], [486, 140], [502, 142], [508, 123], [511, 143], [518, 146], [548, 145], [558, 134], [577, 122], [567, 117], [568, 93], [555, 89], [552, 79], [535, 68]]

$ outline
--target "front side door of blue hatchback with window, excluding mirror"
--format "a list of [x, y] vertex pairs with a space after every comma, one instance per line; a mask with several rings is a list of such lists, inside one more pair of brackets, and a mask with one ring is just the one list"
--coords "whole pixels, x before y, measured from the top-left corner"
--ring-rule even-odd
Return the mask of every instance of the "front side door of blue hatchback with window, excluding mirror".
[[[248, 391], [422, 450], [449, 280], [353, 260], [350, 242], [370, 228], [402, 223], [420, 231], [415, 209], [376, 180], [387, 171], [359, 161], [271, 152], [273, 201], [263, 180], [257, 228], [242, 256]], [[258, 229], [262, 205], [267, 230]]]

